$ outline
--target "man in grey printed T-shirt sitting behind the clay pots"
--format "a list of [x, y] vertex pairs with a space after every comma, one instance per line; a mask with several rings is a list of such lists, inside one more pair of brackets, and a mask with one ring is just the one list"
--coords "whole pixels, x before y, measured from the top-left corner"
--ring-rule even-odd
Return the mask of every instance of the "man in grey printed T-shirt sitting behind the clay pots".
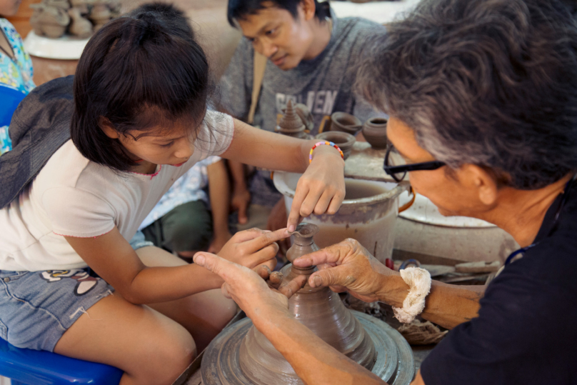
[[[221, 105], [229, 114], [245, 121], [249, 116], [255, 50], [269, 59], [255, 126], [274, 131], [277, 115], [289, 100], [308, 106], [314, 120], [313, 135], [323, 117], [335, 111], [348, 112], [361, 121], [378, 114], [353, 93], [353, 86], [368, 41], [385, 31], [380, 24], [359, 18], [336, 19], [328, 2], [316, 0], [229, 0], [228, 18], [244, 35], [221, 79]], [[256, 172], [247, 188], [243, 166], [231, 164], [231, 169], [235, 182], [231, 205], [239, 209], [242, 229], [243, 224], [264, 228], [275, 204], [274, 217], [283, 216], [282, 195], [269, 172]], [[251, 221], [247, 224], [249, 201]]]

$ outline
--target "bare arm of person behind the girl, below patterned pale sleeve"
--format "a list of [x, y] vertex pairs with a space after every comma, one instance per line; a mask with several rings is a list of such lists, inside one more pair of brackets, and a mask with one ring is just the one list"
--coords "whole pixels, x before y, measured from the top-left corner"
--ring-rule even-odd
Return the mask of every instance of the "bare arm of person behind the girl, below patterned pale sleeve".
[[212, 227], [214, 236], [209, 252], [218, 253], [222, 246], [231, 239], [229, 231], [229, 197], [231, 186], [226, 174], [224, 160], [206, 167], [209, 175], [209, 195], [211, 200]]

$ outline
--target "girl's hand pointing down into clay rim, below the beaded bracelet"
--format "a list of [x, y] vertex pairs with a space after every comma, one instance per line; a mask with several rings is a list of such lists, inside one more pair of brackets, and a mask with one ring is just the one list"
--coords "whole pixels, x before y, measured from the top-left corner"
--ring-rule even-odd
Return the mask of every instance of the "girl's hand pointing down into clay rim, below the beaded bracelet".
[[331, 146], [318, 146], [313, 161], [298, 179], [287, 227], [294, 231], [301, 217], [335, 214], [345, 196], [345, 162]]

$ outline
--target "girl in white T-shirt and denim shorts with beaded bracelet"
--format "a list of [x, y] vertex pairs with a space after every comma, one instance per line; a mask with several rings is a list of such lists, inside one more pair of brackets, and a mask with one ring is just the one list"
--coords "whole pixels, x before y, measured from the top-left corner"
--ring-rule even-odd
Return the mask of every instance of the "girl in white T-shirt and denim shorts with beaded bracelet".
[[[65, 81], [26, 99], [46, 102], [42, 89], [56, 82]], [[71, 140], [0, 210], [2, 338], [116, 366], [125, 372], [122, 385], [171, 384], [236, 309], [210, 291], [223, 284], [216, 274], [129, 245], [171, 184], [197, 161], [221, 155], [304, 173], [289, 230], [299, 216], [338, 209], [344, 162], [336, 149], [316, 147], [309, 164], [314, 141], [207, 111], [209, 94], [206, 56], [171, 6], [142, 6], [89, 41], [74, 78]], [[54, 86], [51, 95], [58, 98]], [[16, 117], [34, 115], [31, 126], [44, 121], [26, 114], [26, 99]], [[41, 111], [59, 116], [69, 108], [66, 98], [55, 105], [61, 110]], [[219, 255], [272, 268], [274, 242], [286, 236], [286, 229], [244, 231]]]

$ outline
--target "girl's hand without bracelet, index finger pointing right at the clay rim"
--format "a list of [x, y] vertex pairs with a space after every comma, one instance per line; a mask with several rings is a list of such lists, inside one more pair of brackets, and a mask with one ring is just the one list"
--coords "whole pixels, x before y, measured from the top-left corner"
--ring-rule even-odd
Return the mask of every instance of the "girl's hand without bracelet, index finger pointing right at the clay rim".
[[264, 231], [261, 229], [249, 229], [239, 231], [224, 244], [219, 252], [221, 258], [234, 262], [249, 269], [265, 264], [269, 269], [276, 266], [276, 253], [279, 245], [276, 241], [287, 238], [286, 229], [277, 231]]

